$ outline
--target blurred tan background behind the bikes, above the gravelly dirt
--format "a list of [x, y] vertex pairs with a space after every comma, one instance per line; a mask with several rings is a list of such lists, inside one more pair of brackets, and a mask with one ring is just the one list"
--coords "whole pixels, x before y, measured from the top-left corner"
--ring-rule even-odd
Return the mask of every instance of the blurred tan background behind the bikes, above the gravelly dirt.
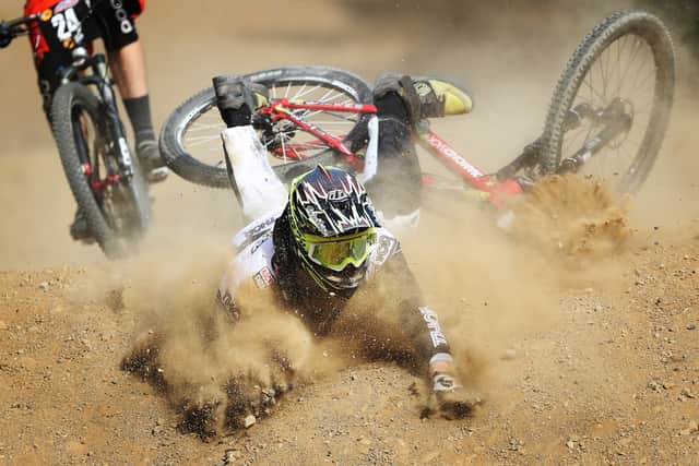
[[[1, 2], [0, 19], [20, 16], [22, 5]], [[137, 26], [146, 47], [157, 129], [220, 73], [327, 64], [368, 81], [389, 71], [442, 74], [472, 89], [476, 107], [470, 116], [445, 121], [439, 131], [491, 170], [538, 135], [558, 75], [584, 34], [611, 12], [633, 7], [650, 9], [671, 25], [680, 70], [678, 100], [696, 101], [689, 86], [697, 81], [692, 57], [699, 53], [696, 0], [168, 0], [147, 2]], [[0, 268], [102, 261], [96, 247], [69, 237], [74, 202], [40, 109], [26, 38], [0, 50]], [[665, 188], [649, 191], [649, 203], [676, 203], [677, 186], [695, 187], [687, 166], [678, 163], [696, 158], [689, 155], [696, 139], [686, 139], [695, 105], [679, 107], [661, 155], [672, 164], [649, 180]], [[671, 151], [682, 157], [668, 158]], [[680, 183], [676, 177], [685, 178]], [[159, 241], [182, 230], [191, 230], [194, 240], [202, 231], [217, 240], [238, 222], [228, 192], [171, 176], [153, 194]]]

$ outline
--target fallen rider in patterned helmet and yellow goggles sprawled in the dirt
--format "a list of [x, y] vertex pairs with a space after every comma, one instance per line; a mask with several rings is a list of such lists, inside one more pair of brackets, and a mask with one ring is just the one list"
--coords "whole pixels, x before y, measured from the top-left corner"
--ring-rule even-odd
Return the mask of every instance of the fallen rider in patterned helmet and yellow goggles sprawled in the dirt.
[[[264, 96], [236, 76], [214, 79], [214, 88], [228, 127], [222, 134], [226, 154], [254, 152], [259, 140], [246, 138], [257, 139], [251, 109]], [[248, 182], [240, 174], [232, 179], [236, 189]], [[246, 298], [239, 292], [245, 286], [272, 292], [281, 310], [322, 336], [356, 296], [370, 296], [375, 312], [399, 316], [399, 332], [414, 354], [411, 366], [426, 374], [437, 408], [449, 418], [466, 416], [479, 398], [457, 380], [437, 313], [426, 304], [399, 240], [381, 226], [364, 186], [347, 171], [319, 166], [293, 180], [283, 203], [261, 205], [268, 212], [259, 212], [234, 239], [238, 252], [218, 289], [229, 315], [245, 319]]]

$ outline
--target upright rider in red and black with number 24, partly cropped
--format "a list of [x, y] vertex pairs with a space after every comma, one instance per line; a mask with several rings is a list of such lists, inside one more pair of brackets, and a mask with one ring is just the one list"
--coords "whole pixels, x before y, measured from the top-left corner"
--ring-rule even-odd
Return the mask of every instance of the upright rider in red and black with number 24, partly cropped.
[[[72, 49], [79, 44], [92, 49], [92, 40], [102, 37], [131, 121], [137, 154], [149, 180], [155, 182], [165, 179], [167, 168], [153, 129], [145, 58], [134, 24], [144, 7], [145, 0], [27, 0], [24, 14], [40, 13], [29, 23], [29, 44], [49, 123], [51, 98], [61, 84], [60, 70], [72, 63]], [[70, 232], [76, 240], [93, 239], [80, 208]]]

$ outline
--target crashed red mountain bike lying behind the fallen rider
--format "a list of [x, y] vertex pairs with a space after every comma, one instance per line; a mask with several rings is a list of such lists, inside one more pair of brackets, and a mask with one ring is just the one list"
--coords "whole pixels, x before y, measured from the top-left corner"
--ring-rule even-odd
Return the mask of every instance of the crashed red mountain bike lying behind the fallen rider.
[[[283, 181], [318, 164], [365, 175], [376, 169], [376, 107], [364, 80], [324, 67], [280, 68], [244, 77], [269, 89], [269, 104], [256, 111], [253, 127]], [[417, 142], [458, 174], [462, 187], [486, 193], [497, 206], [503, 205], [503, 196], [552, 174], [594, 175], [620, 192], [635, 192], [662, 145], [674, 83], [665, 25], [647, 12], [619, 12], [578, 46], [554, 91], [543, 133], [505, 167], [483, 171], [431, 131], [427, 120], [417, 124]], [[223, 129], [214, 91], [205, 88], [169, 116], [161, 151], [182, 178], [229, 188]], [[423, 181], [434, 183], [434, 178]]]

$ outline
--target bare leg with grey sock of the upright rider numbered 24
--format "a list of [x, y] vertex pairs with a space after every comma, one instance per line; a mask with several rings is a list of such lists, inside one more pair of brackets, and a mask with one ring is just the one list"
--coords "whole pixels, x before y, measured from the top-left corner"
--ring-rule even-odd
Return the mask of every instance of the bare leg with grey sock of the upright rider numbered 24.
[[142, 7], [137, 0], [105, 1], [95, 5], [94, 14], [133, 128], [139, 159], [149, 172], [149, 179], [159, 181], [167, 176], [167, 169], [153, 129], [145, 53], [133, 22]]

